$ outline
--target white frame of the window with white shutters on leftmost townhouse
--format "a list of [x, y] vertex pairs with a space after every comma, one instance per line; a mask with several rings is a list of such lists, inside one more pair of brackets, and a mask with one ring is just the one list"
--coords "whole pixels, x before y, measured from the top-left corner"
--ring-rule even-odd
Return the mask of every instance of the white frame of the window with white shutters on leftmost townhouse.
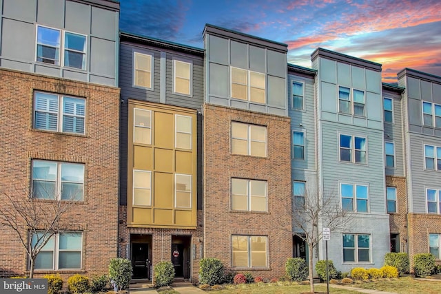
[[[41, 95], [41, 96], [40, 96]], [[37, 109], [37, 107], [39, 107], [39, 103], [37, 103], [38, 101], [41, 101], [43, 98], [43, 96], [51, 96], [52, 99], [51, 100], [57, 100], [57, 111], [55, 111], [54, 109], [50, 109], [51, 105], [48, 102], [48, 108], [47, 109]], [[74, 114], [69, 114], [69, 113], [65, 113], [64, 112], [64, 107], [65, 107], [65, 103], [66, 101], [68, 101], [69, 99], [73, 99], [75, 101], [81, 102], [81, 103], [75, 103], [74, 105]], [[79, 109], [78, 106], [79, 105], [83, 105], [83, 109]], [[53, 107], [53, 106], [52, 106]], [[79, 113], [78, 113], [79, 112]], [[83, 113], [81, 113], [83, 112]], [[57, 115], [57, 128], [56, 129], [50, 129], [49, 126], [47, 128], [43, 128], [43, 127], [37, 127], [37, 113], [40, 114], [56, 114]], [[85, 125], [86, 125], [86, 113], [87, 113], [87, 105], [86, 105], [86, 99], [85, 98], [80, 98], [80, 97], [74, 97], [74, 96], [67, 96], [67, 95], [62, 95], [62, 94], [53, 94], [53, 93], [48, 93], [48, 92], [41, 92], [41, 91], [35, 91], [34, 92], [34, 101], [33, 101], [33, 109], [32, 109], [32, 127], [33, 129], [40, 129], [43, 131], [48, 131], [48, 132], [58, 132], [58, 133], [63, 133], [63, 134], [76, 134], [76, 135], [85, 135]], [[83, 120], [83, 132], [68, 132], [68, 131], [63, 131], [63, 123], [65, 121], [65, 116], [69, 116], [69, 117], [74, 117], [74, 120], [78, 120], [78, 119], [82, 119]], [[76, 124], [74, 124], [74, 127], [76, 129]], [[81, 125], [80, 125], [81, 127]]]

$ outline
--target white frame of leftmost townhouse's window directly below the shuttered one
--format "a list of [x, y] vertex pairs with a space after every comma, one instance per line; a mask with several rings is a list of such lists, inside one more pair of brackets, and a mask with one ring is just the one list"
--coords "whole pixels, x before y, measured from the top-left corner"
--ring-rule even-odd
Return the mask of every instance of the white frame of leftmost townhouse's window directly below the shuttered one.
[[[55, 174], [55, 179], [52, 180], [48, 180], [47, 178], [36, 178], [35, 174], [34, 174], [34, 166], [36, 165], [37, 162], [47, 162], [47, 165], [51, 164], [52, 165], [56, 165], [56, 169], [57, 169], [57, 174]], [[76, 167], [82, 167], [83, 169], [83, 180], [82, 181], [73, 181], [73, 180], [62, 180], [61, 179], [61, 173], [63, 172], [63, 165], [76, 165]], [[84, 201], [84, 194], [85, 194], [85, 165], [83, 163], [77, 163], [77, 162], [63, 162], [63, 161], [54, 161], [54, 160], [43, 160], [43, 159], [32, 159], [31, 162], [31, 195], [32, 198], [34, 199], [45, 199], [45, 200], [66, 200], [66, 201], [70, 201], [70, 200], [74, 200], [74, 201]], [[55, 195], [52, 195], [53, 197], [50, 198], [41, 198], [41, 197], [35, 197], [34, 195], [34, 181], [37, 182], [53, 182], [54, 186], [55, 186]], [[63, 183], [73, 183], [73, 184], [78, 184], [81, 185], [82, 187], [82, 193], [81, 193], [81, 197], [76, 197], [72, 196], [69, 199], [62, 199], [62, 187], [63, 187]]]

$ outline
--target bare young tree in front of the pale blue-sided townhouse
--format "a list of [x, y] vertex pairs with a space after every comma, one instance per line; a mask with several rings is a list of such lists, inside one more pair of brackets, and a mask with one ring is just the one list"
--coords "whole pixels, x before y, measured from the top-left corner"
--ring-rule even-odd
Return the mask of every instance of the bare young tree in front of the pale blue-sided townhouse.
[[330, 231], [343, 229], [351, 220], [351, 211], [340, 206], [340, 197], [334, 192], [322, 193], [316, 187], [305, 187], [305, 197], [294, 199], [292, 220], [294, 235], [308, 244], [308, 269], [311, 293], [314, 293], [313, 255], [314, 249], [322, 240], [320, 227]]

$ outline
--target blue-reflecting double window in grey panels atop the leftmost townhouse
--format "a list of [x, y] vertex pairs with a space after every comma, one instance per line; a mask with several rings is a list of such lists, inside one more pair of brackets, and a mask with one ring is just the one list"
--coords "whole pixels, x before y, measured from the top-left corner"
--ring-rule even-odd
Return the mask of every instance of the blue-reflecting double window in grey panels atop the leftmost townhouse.
[[37, 62], [60, 65], [60, 56], [63, 56], [65, 67], [85, 70], [86, 48], [86, 36], [83, 34], [37, 25]]

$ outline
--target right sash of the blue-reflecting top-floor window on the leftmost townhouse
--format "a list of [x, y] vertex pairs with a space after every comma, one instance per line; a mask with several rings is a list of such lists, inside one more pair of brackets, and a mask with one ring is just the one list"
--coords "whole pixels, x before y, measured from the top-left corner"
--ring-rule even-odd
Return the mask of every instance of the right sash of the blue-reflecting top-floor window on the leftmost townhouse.
[[82, 34], [64, 33], [64, 66], [85, 70], [85, 40]]

